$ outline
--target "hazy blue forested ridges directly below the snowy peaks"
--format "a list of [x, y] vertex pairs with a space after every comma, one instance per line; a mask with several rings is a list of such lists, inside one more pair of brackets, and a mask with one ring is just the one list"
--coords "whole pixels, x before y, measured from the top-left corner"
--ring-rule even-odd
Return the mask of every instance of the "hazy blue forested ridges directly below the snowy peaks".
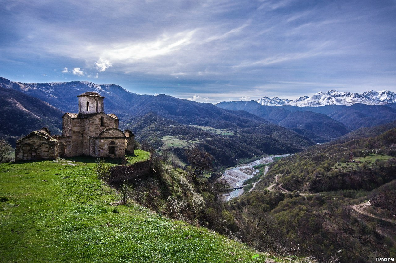
[[[291, 105], [267, 106], [255, 101], [221, 102], [217, 106], [238, 111], [248, 111], [266, 120], [296, 130], [307, 131], [333, 140], [362, 127], [371, 127], [396, 120], [392, 103], [386, 105], [326, 105], [297, 107]], [[323, 141], [323, 140], [322, 140]], [[317, 139], [317, 142], [322, 142]]]

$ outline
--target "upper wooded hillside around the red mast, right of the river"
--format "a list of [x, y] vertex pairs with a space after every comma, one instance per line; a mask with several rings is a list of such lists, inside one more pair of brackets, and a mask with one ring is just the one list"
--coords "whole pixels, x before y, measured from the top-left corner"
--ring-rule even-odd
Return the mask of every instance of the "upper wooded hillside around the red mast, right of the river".
[[[291, 191], [372, 190], [396, 179], [396, 171], [389, 170], [395, 167], [395, 156], [396, 128], [376, 137], [310, 147], [278, 161], [270, 175], [282, 173], [280, 182]], [[385, 170], [378, 172], [379, 165]]]

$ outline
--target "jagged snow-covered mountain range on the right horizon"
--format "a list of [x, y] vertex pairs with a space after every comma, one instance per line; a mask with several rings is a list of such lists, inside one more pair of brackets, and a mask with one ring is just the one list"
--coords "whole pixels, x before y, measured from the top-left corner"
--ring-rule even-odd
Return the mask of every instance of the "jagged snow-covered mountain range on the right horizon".
[[374, 91], [369, 90], [363, 94], [352, 92], [340, 92], [337, 90], [330, 90], [326, 93], [320, 91], [311, 97], [304, 96], [298, 99], [280, 99], [274, 97], [272, 99], [263, 97], [257, 100], [261, 105], [293, 105], [298, 107], [319, 107], [324, 105], [352, 105], [355, 103], [363, 103], [368, 105], [386, 104], [396, 102], [396, 93], [393, 91], [383, 90]]

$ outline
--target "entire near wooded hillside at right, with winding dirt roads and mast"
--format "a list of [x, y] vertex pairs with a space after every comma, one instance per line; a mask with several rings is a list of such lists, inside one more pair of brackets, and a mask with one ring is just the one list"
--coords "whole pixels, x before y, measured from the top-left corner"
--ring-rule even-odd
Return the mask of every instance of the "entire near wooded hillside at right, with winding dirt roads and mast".
[[[353, 162], [348, 162], [350, 151]], [[241, 240], [321, 262], [394, 257], [395, 156], [396, 128], [277, 160], [253, 191], [231, 201], [240, 215]]]

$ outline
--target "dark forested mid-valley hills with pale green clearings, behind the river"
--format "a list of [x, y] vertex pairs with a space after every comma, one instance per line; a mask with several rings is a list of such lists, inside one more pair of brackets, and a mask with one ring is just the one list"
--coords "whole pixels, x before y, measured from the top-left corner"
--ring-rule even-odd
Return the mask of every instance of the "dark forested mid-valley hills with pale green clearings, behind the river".
[[223, 129], [224, 133], [216, 133], [209, 126], [181, 124], [154, 112], [128, 120], [123, 128], [126, 127], [133, 130], [140, 141], [148, 141], [160, 150], [170, 149], [182, 160], [184, 150], [196, 145], [215, 157], [217, 167], [233, 166], [242, 159], [263, 154], [297, 152], [314, 145], [307, 137], [274, 124]]

